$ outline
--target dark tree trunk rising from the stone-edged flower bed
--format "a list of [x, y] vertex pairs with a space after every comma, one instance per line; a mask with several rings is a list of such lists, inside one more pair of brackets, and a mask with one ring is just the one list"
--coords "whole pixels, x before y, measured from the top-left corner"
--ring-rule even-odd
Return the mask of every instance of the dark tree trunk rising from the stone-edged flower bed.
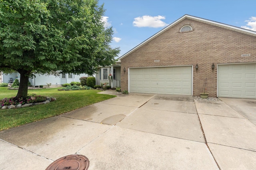
[[28, 76], [30, 71], [21, 70], [20, 73], [20, 87], [18, 90], [18, 94], [15, 97], [16, 99], [19, 98], [26, 98], [28, 96]]

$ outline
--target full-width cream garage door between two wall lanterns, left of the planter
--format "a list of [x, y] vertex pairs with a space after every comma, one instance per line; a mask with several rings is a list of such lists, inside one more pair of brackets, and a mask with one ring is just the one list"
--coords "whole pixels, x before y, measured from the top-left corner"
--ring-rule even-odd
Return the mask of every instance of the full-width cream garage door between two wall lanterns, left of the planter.
[[130, 92], [192, 94], [192, 66], [130, 68]]

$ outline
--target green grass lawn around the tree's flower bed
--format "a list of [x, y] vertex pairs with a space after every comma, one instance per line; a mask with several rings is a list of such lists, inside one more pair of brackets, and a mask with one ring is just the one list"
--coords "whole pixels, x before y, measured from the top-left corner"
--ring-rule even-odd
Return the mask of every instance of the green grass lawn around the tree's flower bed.
[[[28, 94], [54, 97], [57, 99], [54, 102], [19, 109], [0, 109], [0, 131], [60, 115], [68, 111], [115, 97], [108, 94], [97, 94], [98, 92], [101, 92], [100, 90], [60, 91], [58, 89], [61, 88], [28, 90]], [[0, 87], [0, 100], [16, 96], [17, 92], [18, 90], [8, 90], [7, 87]]]

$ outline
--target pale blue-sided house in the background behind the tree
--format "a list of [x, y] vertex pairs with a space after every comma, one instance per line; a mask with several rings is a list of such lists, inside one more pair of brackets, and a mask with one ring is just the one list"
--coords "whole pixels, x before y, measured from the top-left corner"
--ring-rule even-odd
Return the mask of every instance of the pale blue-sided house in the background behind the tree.
[[[9, 83], [10, 79], [13, 81], [18, 78], [20, 81], [20, 74], [17, 72], [11, 74], [2, 74], [0, 75], [0, 79], [4, 83]], [[60, 76], [55, 76], [53, 74], [35, 74], [34, 78], [29, 78], [29, 82], [32, 86], [47, 86], [47, 83], [51, 83], [51, 87], [58, 87], [62, 84], [70, 83], [70, 82], [80, 82], [80, 77], [90, 77], [88, 74], [60, 74]]]

